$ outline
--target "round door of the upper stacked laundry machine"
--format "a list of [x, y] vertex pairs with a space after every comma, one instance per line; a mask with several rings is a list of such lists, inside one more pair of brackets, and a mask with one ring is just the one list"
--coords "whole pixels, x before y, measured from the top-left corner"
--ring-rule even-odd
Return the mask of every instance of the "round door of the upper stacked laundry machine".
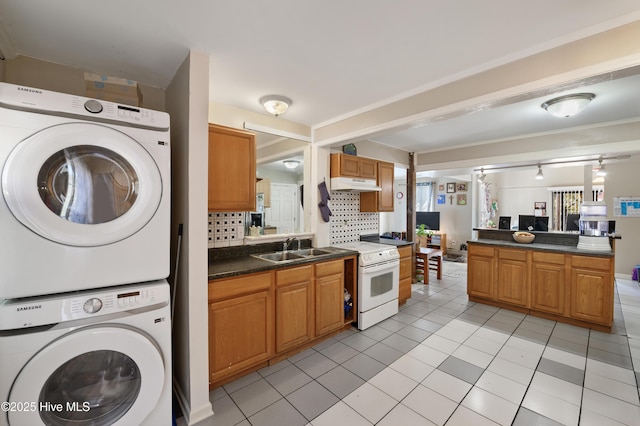
[[2, 171], [24, 226], [65, 245], [112, 244], [138, 232], [162, 197], [158, 166], [136, 140], [99, 124], [48, 127], [21, 141]]

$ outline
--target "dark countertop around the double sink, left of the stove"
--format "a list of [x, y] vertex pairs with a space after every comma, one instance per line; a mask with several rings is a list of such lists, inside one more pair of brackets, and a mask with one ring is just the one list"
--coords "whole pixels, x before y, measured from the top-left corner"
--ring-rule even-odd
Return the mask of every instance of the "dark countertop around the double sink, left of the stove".
[[216, 280], [220, 278], [230, 278], [240, 275], [254, 274], [256, 272], [288, 268], [291, 266], [305, 265], [308, 263], [324, 262], [326, 260], [334, 260], [343, 257], [358, 255], [357, 251], [346, 250], [337, 247], [319, 247], [319, 249], [328, 251], [330, 253], [320, 256], [309, 256], [303, 259], [296, 259], [279, 263], [258, 259], [251, 254], [227, 258], [210, 257], [208, 279]]

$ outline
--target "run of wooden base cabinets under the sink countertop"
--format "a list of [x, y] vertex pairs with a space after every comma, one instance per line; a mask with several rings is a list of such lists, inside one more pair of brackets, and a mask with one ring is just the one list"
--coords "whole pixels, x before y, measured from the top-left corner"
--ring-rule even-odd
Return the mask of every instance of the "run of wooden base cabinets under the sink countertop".
[[357, 297], [355, 262], [351, 256], [209, 281], [210, 388], [342, 329], [345, 287]]

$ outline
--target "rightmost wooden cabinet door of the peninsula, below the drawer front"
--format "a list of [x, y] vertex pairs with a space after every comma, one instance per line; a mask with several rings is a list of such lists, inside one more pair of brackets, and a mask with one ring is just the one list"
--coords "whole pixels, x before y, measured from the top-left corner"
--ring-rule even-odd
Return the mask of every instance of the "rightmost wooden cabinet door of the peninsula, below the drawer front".
[[571, 316], [604, 325], [612, 324], [613, 280], [610, 272], [572, 268]]

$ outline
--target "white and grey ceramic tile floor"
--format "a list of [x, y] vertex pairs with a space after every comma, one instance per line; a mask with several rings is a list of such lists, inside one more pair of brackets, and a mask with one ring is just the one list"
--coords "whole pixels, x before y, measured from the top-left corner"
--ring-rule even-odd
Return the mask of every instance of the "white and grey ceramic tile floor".
[[215, 389], [200, 425], [637, 425], [638, 283], [616, 280], [615, 308], [600, 333], [469, 302], [466, 274], [434, 276], [395, 318]]

